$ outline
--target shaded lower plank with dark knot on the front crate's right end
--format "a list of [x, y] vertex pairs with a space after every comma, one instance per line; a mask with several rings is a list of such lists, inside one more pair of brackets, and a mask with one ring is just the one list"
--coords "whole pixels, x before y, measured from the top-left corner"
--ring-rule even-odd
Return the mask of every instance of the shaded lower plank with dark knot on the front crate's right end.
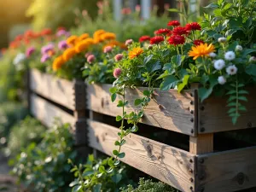
[[256, 186], [256, 147], [197, 156], [198, 191], [232, 192]]

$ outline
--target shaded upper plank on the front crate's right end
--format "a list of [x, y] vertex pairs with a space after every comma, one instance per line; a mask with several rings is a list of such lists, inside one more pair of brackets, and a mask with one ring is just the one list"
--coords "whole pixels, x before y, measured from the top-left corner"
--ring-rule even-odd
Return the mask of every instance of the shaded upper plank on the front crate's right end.
[[249, 90], [248, 102], [243, 102], [247, 111], [241, 113], [236, 125], [233, 125], [228, 115], [228, 97], [210, 97], [201, 103], [199, 107], [200, 124], [198, 133], [210, 133], [220, 131], [240, 130], [256, 127], [256, 91]]

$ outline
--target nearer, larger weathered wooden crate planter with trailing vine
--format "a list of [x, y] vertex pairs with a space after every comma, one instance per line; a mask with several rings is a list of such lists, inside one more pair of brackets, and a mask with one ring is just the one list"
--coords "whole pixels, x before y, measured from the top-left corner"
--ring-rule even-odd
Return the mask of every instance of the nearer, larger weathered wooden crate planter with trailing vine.
[[[87, 108], [110, 116], [121, 114], [117, 103], [111, 102], [108, 92], [111, 86], [88, 85]], [[126, 89], [127, 112], [136, 109], [132, 102], [143, 96], [143, 89]], [[255, 96], [254, 91], [249, 100]], [[122, 160], [184, 192], [231, 192], [256, 186], [256, 147], [213, 151], [214, 132], [256, 125], [256, 104], [247, 103], [247, 113], [236, 125], [231, 124], [225, 106], [224, 98], [212, 97], [199, 102], [197, 89], [186, 90], [183, 94], [178, 94], [177, 90], [156, 90], [142, 123], [188, 135], [189, 151], [131, 134], [125, 138], [123, 151], [126, 155]], [[100, 121], [93, 115], [88, 119], [89, 145], [111, 155], [119, 129]]]

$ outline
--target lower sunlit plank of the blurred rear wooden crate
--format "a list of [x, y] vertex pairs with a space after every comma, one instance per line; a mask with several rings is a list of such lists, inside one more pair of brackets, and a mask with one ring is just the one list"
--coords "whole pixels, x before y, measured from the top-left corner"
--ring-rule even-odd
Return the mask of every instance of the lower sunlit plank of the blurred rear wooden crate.
[[55, 121], [55, 117], [61, 119], [62, 123], [69, 123], [73, 126], [75, 124], [75, 119], [73, 115], [57, 108], [44, 99], [31, 95], [31, 112], [34, 117], [39, 119], [44, 125], [51, 126]]

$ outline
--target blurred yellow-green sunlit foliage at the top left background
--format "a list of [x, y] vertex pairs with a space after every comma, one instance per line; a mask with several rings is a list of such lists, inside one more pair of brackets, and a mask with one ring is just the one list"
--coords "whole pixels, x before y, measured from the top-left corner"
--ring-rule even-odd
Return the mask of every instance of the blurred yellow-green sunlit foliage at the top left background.
[[56, 29], [58, 26], [67, 28], [74, 25], [75, 12], [84, 8], [90, 15], [96, 15], [96, 0], [33, 0], [26, 10], [27, 16], [32, 16], [32, 27], [41, 30], [44, 27]]

